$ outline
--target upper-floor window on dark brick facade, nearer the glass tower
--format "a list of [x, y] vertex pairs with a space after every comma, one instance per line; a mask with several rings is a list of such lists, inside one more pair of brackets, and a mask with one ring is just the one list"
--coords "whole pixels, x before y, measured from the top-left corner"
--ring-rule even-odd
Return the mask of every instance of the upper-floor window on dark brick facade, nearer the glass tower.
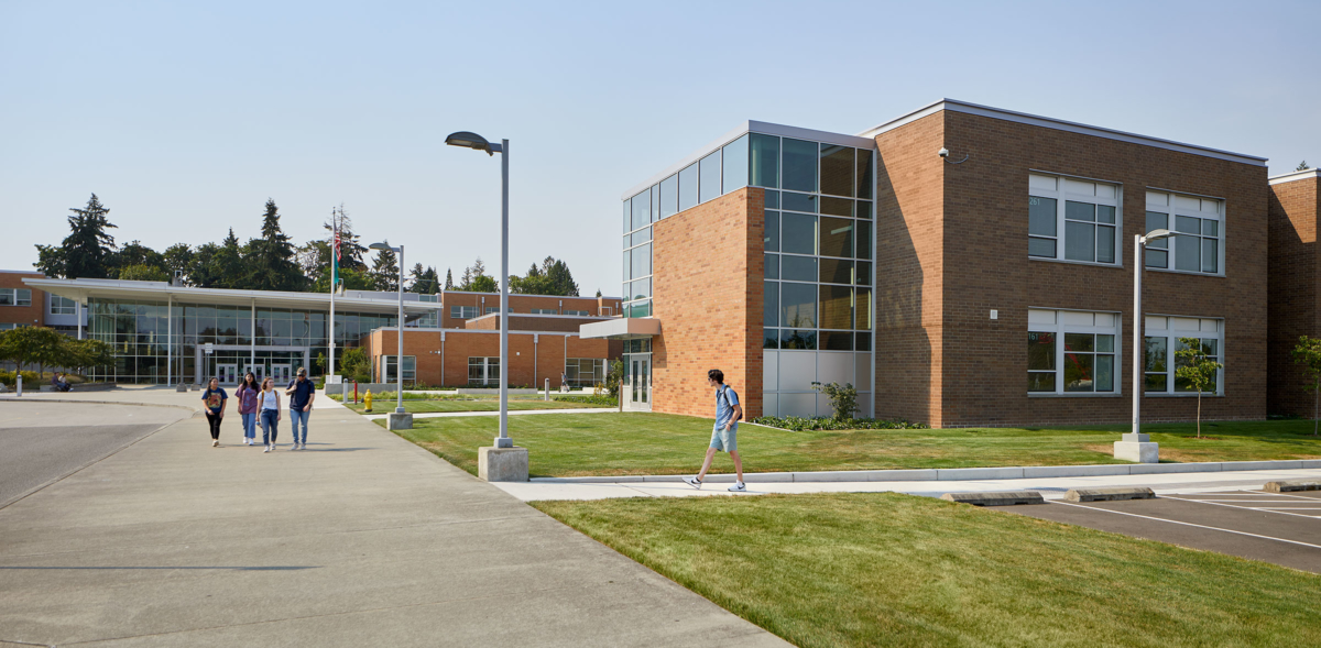
[[1028, 256], [1116, 264], [1119, 185], [1028, 176]]

